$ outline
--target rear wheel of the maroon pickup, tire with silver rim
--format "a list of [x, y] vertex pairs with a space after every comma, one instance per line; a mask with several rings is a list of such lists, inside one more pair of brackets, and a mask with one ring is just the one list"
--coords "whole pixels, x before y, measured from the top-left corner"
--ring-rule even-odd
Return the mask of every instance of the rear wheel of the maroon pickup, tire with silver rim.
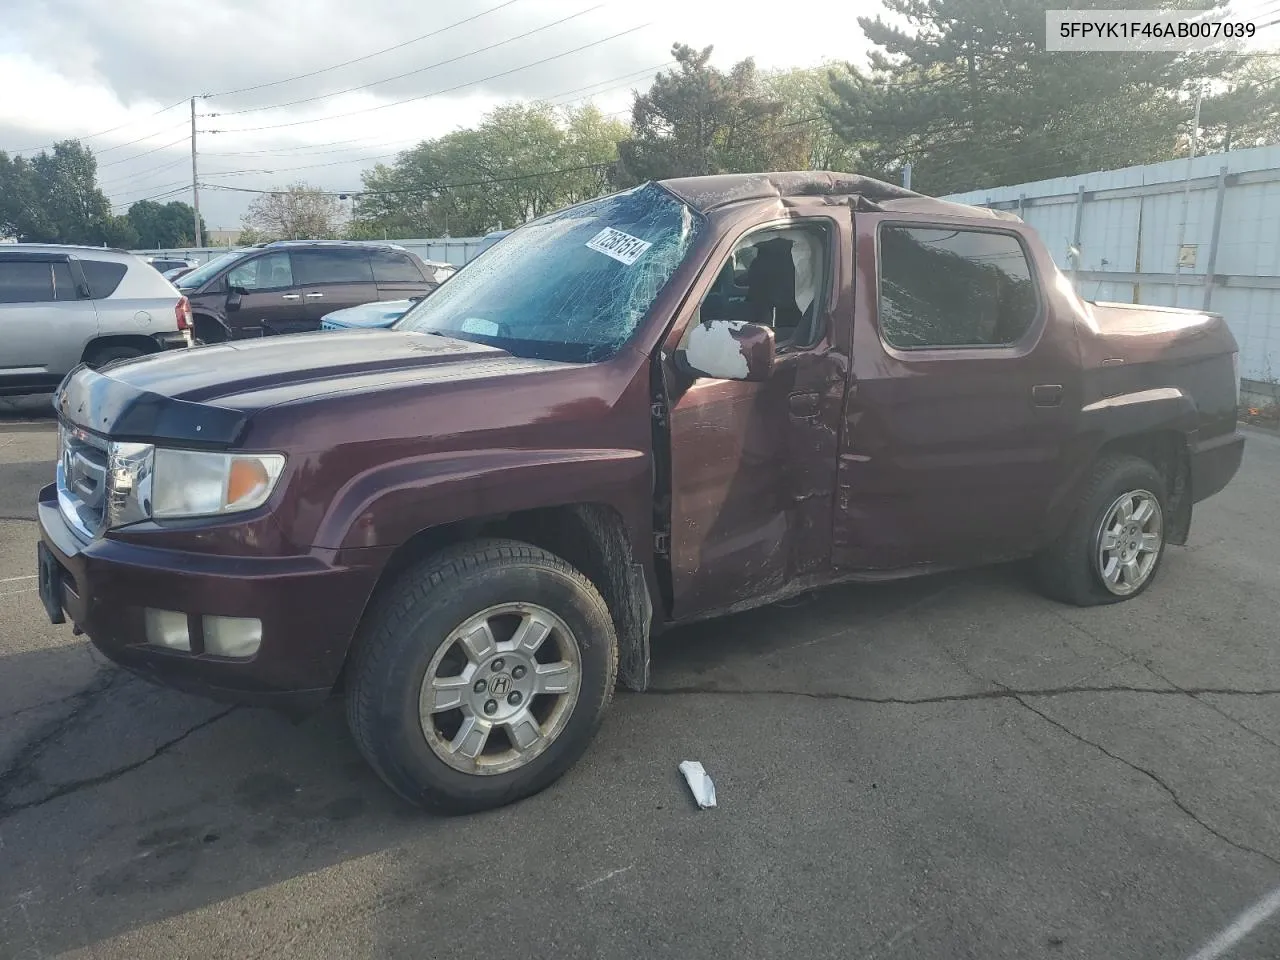
[[[1142, 504], [1149, 498], [1155, 507], [1155, 524], [1149, 520], [1142, 522], [1121, 521], [1121, 498], [1129, 495], [1128, 506], [1135, 516], [1142, 513]], [[1138, 507], [1137, 509], [1133, 509]], [[1116, 513], [1115, 511], [1119, 511]], [[1139, 517], [1140, 520], [1140, 517]], [[1033, 561], [1033, 570], [1041, 590], [1048, 596], [1073, 603], [1079, 607], [1094, 607], [1106, 603], [1119, 603], [1132, 600], [1140, 595], [1156, 580], [1160, 564], [1165, 557], [1164, 531], [1169, 524], [1169, 492], [1165, 480], [1147, 461], [1133, 456], [1110, 456], [1100, 460], [1089, 479], [1084, 484], [1080, 500], [1071, 515], [1062, 536], [1048, 549]], [[1103, 553], [1103, 521], [1108, 521], [1111, 530], [1120, 529], [1119, 538], [1107, 538], [1106, 543], [1116, 544], [1117, 549]], [[1115, 526], [1120, 522], [1120, 527]], [[1137, 532], [1129, 530], [1137, 525]], [[1151, 545], [1147, 539], [1152, 529], [1156, 530], [1158, 541]], [[1130, 556], [1125, 550], [1128, 544], [1139, 543], [1148, 549], [1132, 556], [1132, 563], [1140, 572], [1134, 577], [1134, 582], [1114, 582], [1108, 586], [1105, 570], [1112, 571], [1114, 576], [1121, 579], [1128, 575], [1120, 571], [1116, 575], [1115, 566], [1110, 561], [1123, 561]], [[1147, 557], [1151, 556], [1149, 564]], [[1120, 562], [1120, 567], [1126, 567]]]

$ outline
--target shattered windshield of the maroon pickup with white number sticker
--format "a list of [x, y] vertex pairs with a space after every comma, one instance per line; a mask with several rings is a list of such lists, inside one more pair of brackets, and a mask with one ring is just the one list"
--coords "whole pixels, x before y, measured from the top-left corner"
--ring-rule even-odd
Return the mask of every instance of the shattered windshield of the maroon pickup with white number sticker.
[[396, 324], [568, 362], [612, 357], [694, 242], [701, 218], [655, 184], [525, 224]]

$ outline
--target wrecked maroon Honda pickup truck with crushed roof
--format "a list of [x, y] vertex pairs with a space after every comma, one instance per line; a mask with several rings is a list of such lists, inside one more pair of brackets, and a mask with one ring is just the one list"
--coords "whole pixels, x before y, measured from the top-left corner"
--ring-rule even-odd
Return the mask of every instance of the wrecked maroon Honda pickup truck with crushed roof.
[[527, 796], [654, 631], [1027, 558], [1147, 589], [1231, 479], [1220, 316], [1080, 300], [1019, 219], [860, 177], [649, 183], [515, 230], [390, 330], [77, 369], [40, 589], [161, 684], [344, 692], [408, 800]]

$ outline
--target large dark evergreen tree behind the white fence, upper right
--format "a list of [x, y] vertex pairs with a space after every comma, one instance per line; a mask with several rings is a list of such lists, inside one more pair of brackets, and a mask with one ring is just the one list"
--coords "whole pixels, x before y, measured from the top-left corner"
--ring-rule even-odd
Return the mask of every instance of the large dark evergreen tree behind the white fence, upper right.
[[1048, 52], [1044, 4], [1033, 0], [884, 6], [909, 27], [859, 18], [878, 47], [873, 73], [838, 74], [824, 111], [847, 142], [877, 141], [864, 151], [872, 169], [910, 161], [913, 186], [933, 193], [1169, 159], [1190, 87], [1233, 65], [1221, 55]]

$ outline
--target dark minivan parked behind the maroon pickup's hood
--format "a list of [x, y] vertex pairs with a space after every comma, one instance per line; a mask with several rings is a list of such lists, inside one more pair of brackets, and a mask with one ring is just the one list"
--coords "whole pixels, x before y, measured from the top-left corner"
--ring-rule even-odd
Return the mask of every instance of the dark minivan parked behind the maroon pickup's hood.
[[276, 241], [237, 250], [179, 276], [201, 343], [316, 330], [334, 310], [422, 297], [435, 271], [403, 247]]

